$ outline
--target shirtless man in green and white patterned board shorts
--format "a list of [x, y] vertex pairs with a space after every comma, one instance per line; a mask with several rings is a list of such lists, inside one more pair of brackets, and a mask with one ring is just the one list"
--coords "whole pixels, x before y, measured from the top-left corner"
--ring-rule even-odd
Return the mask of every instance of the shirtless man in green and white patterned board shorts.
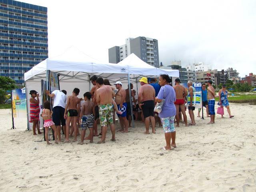
[[108, 124], [112, 132], [111, 141], [116, 141], [112, 105], [112, 97], [115, 96], [115, 93], [110, 86], [104, 85], [104, 80], [101, 77], [96, 80], [96, 84], [98, 86], [96, 90], [96, 103], [99, 106], [100, 126], [102, 126], [102, 138], [98, 144], [105, 143]]

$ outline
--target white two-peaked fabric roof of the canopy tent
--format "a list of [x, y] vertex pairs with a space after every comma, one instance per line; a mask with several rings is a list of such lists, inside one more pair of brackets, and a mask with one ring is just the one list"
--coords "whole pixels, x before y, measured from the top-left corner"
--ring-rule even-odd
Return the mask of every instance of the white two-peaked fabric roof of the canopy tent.
[[[135, 54], [131, 54], [118, 64], [112, 64], [96, 60], [74, 47], [68, 48], [68, 50], [57, 57], [47, 58], [40, 62], [24, 74], [24, 80], [26, 81], [32, 77], [44, 78], [46, 70], [59, 73], [62, 76], [60, 81], [72, 78], [88, 80], [88, 76], [94, 74], [108, 79], [125, 78], [127, 74], [144, 76], [168, 74], [174, 77], [179, 76], [178, 70], [163, 70], [150, 66]], [[138, 78], [138, 76], [136, 77]]]

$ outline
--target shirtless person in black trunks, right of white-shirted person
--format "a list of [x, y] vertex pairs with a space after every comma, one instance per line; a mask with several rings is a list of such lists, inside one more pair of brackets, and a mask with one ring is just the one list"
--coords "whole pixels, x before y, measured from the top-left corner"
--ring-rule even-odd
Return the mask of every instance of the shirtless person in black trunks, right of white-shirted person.
[[[77, 118], [80, 110], [80, 98], [78, 98], [80, 90], [78, 88], [74, 88], [72, 96], [68, 96], [67, 105], [64, 112], [64, 118], [67, 119], [67, 126], [66, 126], [66, 140], [64, 143], [69, 142], [69, 125], [70, 121], [73, 120], [73, 127], [74, 127], [74, 142], [76, 142], [77, 136]], [[67, 115], [68, 112], [68, 115]]]

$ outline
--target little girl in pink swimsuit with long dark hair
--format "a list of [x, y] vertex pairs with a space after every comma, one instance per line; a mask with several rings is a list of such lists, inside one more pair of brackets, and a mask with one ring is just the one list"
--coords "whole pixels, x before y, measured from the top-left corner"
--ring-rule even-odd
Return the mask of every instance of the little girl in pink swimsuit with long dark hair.
[[57, 130], [54, 122], [52, 121], [52, 111], [51, 111], [51, 104], [50, 101], [44, 102], [44, 109], [42, 110], [42, 118], [44, 119], [44, 128], [45, 128], [45, 139], [47, 144], [51, 144], [48, 140], [48, 130], [49, 127], [51, 127], [54, 130], [54, 137], [55, 137], [55, 143], [58, 144], [57, 141]]

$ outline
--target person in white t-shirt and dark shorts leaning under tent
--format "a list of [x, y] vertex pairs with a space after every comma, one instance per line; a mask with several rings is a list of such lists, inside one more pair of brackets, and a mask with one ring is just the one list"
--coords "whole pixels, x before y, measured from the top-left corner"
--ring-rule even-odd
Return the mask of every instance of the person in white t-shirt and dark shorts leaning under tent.
[[53, 108], [52, 108], [52, 121], [57, 127], [57, 136], [58, 142], [60, 142], [60, 123], [63, 126], [64, 134], [66, 137], [66, 120], [64, 119], [65, 114], [65, 106], [67, 102], [67, 92], [66, 90], [54, 90], [52, 94], [50, 94], [49, 90], [46, 90], [46, 94], [53, 99]]

